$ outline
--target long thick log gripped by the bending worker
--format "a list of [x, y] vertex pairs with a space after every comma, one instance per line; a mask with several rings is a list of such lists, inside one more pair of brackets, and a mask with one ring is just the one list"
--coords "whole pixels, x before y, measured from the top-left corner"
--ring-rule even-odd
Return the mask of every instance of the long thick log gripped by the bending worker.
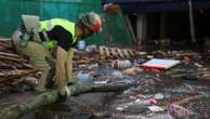
[[[68, 87], [69, 90], [69, 97], [76, 96], [79, 94], [88, 93], [88, 92], [116, 92], [116, 91], [123, 91], [130, 88], [131, 84], [105, 84], [105, 85], [80, 85], [74, 84]], [[60, 101], [58, 94], [56, 91], [47, 92], [43, 94], [39, 94], [36, 97], [27, 100], [23, 104], [12, 105], [3, 110], [0, 110], [0, 117], [2, 119], [18, 119], [26, 114], [31, 113], [32, 110], [48, 106], [53, 103]]]

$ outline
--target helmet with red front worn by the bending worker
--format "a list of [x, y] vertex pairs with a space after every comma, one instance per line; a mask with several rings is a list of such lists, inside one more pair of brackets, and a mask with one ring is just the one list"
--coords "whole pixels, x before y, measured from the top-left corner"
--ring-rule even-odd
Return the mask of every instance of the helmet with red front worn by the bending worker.
[[94, 12], [80, 15], [79, 23], [83, 24], [87, 28], [92, 30], [94, 34], [99, 34], [102, 31], [102, 19], [100, 15], [97, 15]]

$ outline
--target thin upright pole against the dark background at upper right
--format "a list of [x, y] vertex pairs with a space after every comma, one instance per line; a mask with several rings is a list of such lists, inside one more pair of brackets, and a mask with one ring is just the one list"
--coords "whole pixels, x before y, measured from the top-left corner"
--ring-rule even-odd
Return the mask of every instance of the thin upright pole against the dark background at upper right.
[[193, 43], [196, 43], [196, 38], [195, 38], [195, 25], [194, 25], [194, 14], [193, 14], [193, 3], [192, 3], [192, 0], [188, 0], [188, 12], [189, 12], [189, 28], [191, 28], [192, 42], [193, 42]]

